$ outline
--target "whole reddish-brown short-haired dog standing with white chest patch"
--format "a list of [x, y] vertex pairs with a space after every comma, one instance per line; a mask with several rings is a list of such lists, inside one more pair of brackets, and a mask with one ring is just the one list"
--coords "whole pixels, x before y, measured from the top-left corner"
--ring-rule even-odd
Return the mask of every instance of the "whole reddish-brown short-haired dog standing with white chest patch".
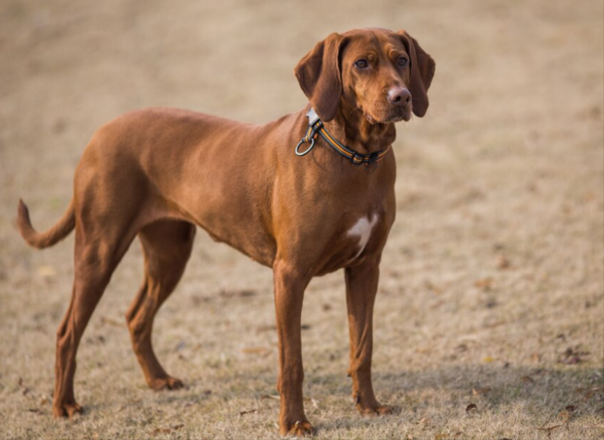
[[[75, 228], [73, 295], [57, 331], [54, 416], [81, 411], [73, 393], [78, 344], [137, 235], [145, 279], [126, 314], [132, 346], [150, 387], [182, 386], [161, 367], [151, 332], [182, 276], [196, 226], [274, 270], [281, 434], [313, 432], [302, 404], [302, 298], [312, 277], [339, 269], [346, 275], [353, 398], [361, 413], [387, 413], [371, 386], [371, 328], [396, 212], [390, 145], [395, 122], [425, 114], [434, 68], [404, 31], [331, 34], [295, 68], [310, 104], [293, 115], [257, 126], [152, 108], [101, 127], [55, 226], [36, 232], [19, 206], [20, 232], [31, 246], [52, 246]], [[311, 106], [324, 126], [313, 113], [307, 119]], [[301, 139], [300, 155], [316, 143], [304, 157], [294, 154]]]

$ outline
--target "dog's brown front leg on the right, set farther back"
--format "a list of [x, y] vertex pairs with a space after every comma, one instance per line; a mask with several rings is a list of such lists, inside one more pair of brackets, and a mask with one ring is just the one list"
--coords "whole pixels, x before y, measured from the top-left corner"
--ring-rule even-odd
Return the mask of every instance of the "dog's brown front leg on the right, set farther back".
[[381, 405], [371, 385], [371, 352], [373, 350], [374, 302], [380, 276], [377, 262], [359, 267], [347, 267], [346, 303], [351, 338], [351, 363], [348, 375], [353, 379], [353, 400], [362, 414], [387, 414], [391, 410]]

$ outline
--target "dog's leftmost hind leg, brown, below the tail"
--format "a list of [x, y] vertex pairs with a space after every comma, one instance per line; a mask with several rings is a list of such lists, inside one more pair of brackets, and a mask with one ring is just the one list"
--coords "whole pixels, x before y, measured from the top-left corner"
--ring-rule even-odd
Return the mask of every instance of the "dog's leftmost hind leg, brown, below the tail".
[[73, 377], [75, 355], [84, 329], [101, 299], [111, 274], [130, 240], [86, 240], [82, 229], [75, 230], [75, 278], [69, 308], [57, 330], [57, 360], [54, 367], [54, 417], [73, 416], [82, 412], [75, 402]]

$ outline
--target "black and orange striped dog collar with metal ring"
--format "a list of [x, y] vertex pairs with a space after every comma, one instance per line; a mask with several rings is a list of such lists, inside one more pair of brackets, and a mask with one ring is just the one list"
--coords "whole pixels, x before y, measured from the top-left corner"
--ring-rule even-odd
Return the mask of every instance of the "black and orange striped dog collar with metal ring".
[[[310, 108], [307, 113], [307, 118], [309, 119], [309, 128], [307, 129], [304, 138], [302, 138], [302, 140], [300, 140], [295, 147], [296, 156], [304, 156], [305, 154], [309, 154], [311, 149], [313, 149], [315, 146], [315, 140], [318, 135], [321, 135], [321, 138], [327, 142], [327, 145], [332, 147], [332, 149], [334, 149], [341, 156], [346, 157], [346, 159], [350, 159], [350, 161], [355, 165], [360, 165], [361, 163], [364, 163], [365, 165], [369, 165], [369, 163], [374, 162], [378, 163], [383, 159], [385, 154], [390, 151], [390, 147], [392, 147], [392, 145], [388, 145], [388, 148], [378, 152], [373, 152], [371, 154], [360, 154], [359, 152], [355, 152], [355, 150], [346, 147], [346, 145], [334, 138], [330, 132], [325, 129], [323, 121], [321, 121], [321, 118], [318, 117], [314, 108]], [[300, 152], [300, 146], [305, 142], [310, 142], [310, 146], [303, 152]]]

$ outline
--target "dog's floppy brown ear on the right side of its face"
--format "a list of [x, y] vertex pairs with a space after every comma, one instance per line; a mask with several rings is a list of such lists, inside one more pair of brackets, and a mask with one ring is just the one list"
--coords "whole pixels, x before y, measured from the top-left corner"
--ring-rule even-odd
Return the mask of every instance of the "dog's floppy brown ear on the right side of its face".
[[411, 57], [411, 80], [408, 85], [413, 99], [413, 113], [422, 117], [428, 110], [428, 89], [434, 78], [436, 63], [411, 35], [406, 31], [398, 31], [406, 50]]

